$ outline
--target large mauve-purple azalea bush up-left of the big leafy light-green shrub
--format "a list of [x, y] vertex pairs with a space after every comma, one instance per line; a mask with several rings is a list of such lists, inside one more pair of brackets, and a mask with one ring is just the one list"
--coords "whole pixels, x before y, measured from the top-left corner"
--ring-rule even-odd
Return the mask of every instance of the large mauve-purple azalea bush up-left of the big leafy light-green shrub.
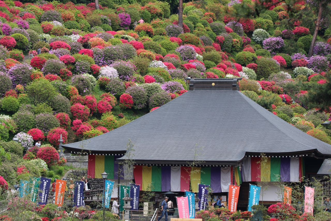
[[31, 80], [30, 75], [32, 71], [33, 67], [27, 63], [15, 64], [12, 66], [8, 71], [8, 75], [12, 79], [13, 88], [15, 88], [18, 84], [26, 86], [26, 84]]

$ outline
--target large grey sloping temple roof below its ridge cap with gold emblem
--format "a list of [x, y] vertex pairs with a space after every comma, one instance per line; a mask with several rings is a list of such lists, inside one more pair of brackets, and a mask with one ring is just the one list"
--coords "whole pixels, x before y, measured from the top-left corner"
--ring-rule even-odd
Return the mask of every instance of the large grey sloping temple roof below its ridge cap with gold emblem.
[[[331, 145], [285, 122], [241, 92], [226, 89], [190, 90], [128, 124], [85, 140], [84, 149], [125, 151], [129, 139], [136, 146], [136, 162], [238, 162], [245, 153], [261, 152], [331, 155]], [[82, 143], [63, 147], [80, 150]]]

